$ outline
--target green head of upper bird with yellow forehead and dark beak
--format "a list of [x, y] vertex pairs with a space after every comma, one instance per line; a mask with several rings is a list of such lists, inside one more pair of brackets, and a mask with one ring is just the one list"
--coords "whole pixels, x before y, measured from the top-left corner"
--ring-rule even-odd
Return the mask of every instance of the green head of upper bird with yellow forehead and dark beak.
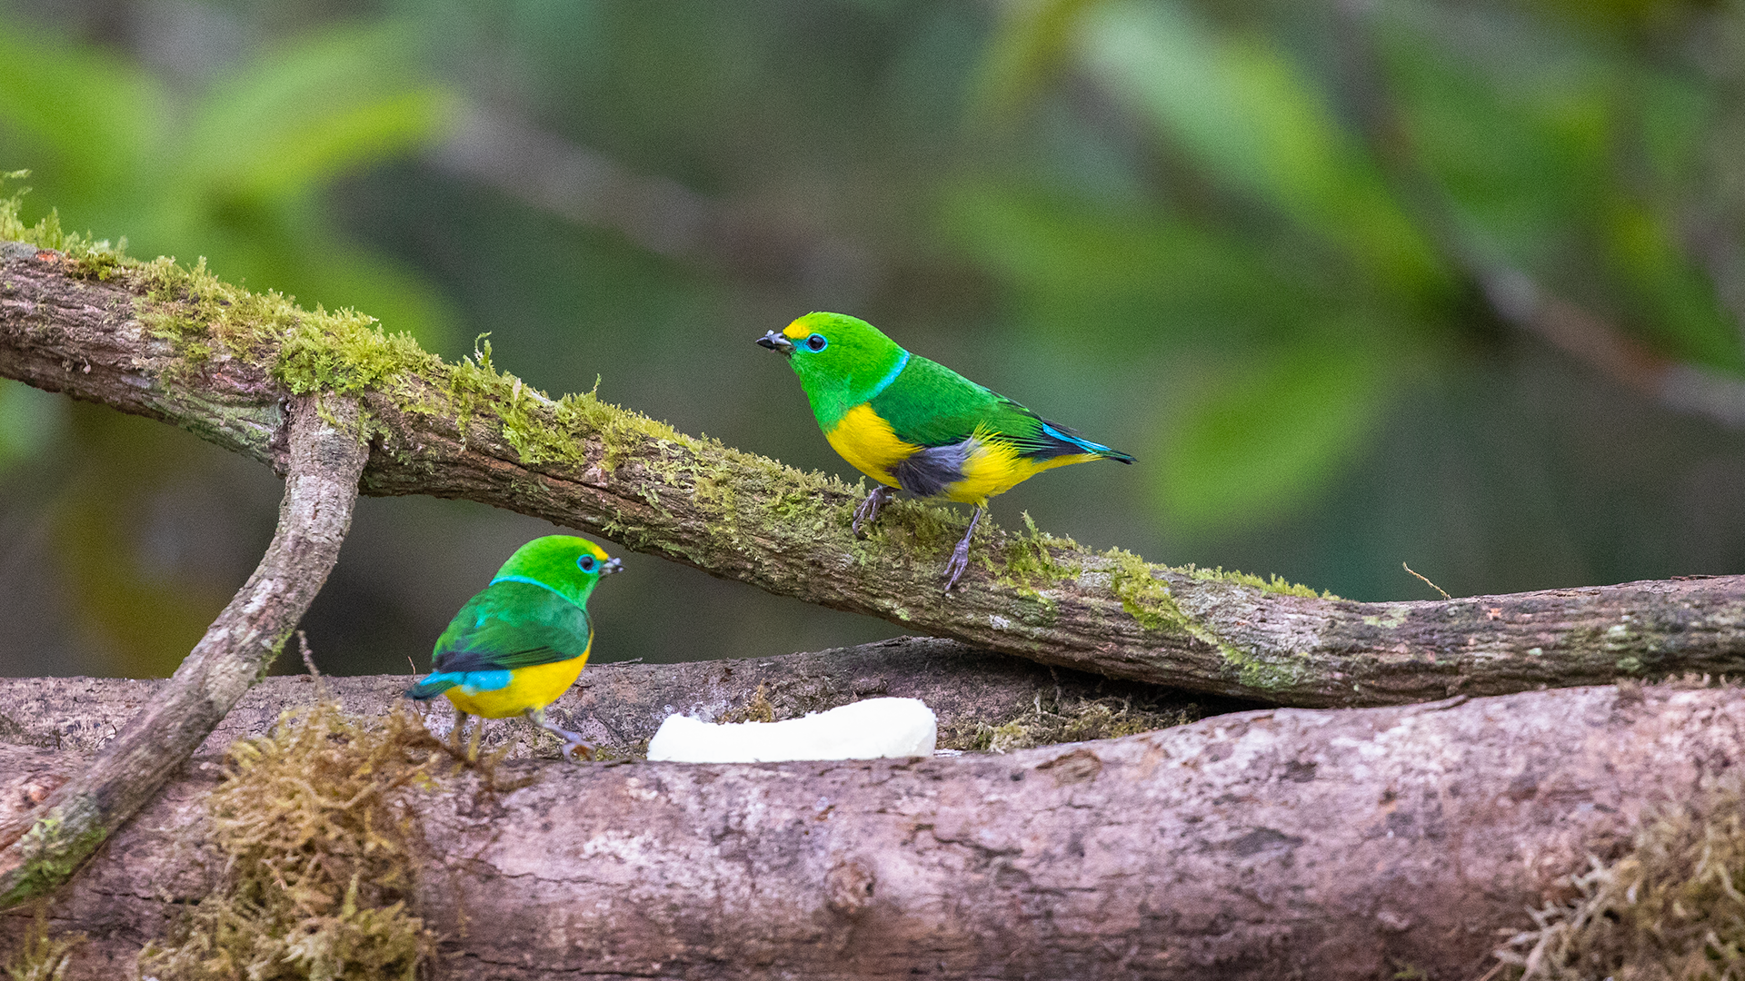
[[757, 344], [778, 351], [799, 375], [818, 426], [832, 429], [845, 412], [885, 391], [909, 353], [871, 323], [846, 314], [806, 314]]

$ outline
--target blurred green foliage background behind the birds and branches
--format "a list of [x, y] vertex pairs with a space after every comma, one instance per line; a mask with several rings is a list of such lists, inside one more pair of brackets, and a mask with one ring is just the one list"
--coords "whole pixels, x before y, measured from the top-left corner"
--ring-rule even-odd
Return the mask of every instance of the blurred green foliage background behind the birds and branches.
[[[995, 517], [1352, 599], [1745, 571], [1740, 0], [0, 0], [26, 218], [850, 473], [811, 309], [1139, 457]], [[279, 485], [0, 382], [0, 674], [168, 674]], [[307, 620], [426, 665], [548, 525], [366, 499]], [[890, 635], [653, 557], [600, 660]]]

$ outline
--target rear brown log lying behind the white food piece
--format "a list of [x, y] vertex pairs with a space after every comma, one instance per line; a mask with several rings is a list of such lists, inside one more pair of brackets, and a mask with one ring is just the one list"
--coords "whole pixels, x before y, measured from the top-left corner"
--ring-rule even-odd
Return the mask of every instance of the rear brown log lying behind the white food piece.
[[[325, 677], [318, 686], [309, 676], [269, 677], [230, 709], [199, 752], [220, 756], [239, 737], [265, 735], [283, 710], [314, 703], [323, 689], [351, 716], [386, 716], [407, 703], [403, 693], [414, 681], [412, 676]], [[0, 744], [94, 752], [138, 710], [157, 702], [166, 684], [124, 677], [0, 677]], [[640, 754], [675, 712], [710, 723], [747, 721], [759, 710], [771, 719], [794, 719], [879, 696], [925, 702], [939, 717], [944, 747], [1010, 723], [1056, 731], [1059, 726], [1049, 726], [1045, 716], [1082, 717], [1092, 702], [1127, 709], [1127, 719], [1143, 712], [1155, 728], [1255, 707], [1050, 669], [956, 641], [897, 637], [770, 658], [590, 665], [579, 684], [546, 709], [546, 717], [602, 751], [626, 756]], [[447, 700], [424, 703], [422, 710], [436, 733], [447, 733], [454, 723]], [[482, 740], [483, 751], [511, 759], [558, 759], [560, 745], [557, 737], [537, 735], [520, 719], [489, 723]]]

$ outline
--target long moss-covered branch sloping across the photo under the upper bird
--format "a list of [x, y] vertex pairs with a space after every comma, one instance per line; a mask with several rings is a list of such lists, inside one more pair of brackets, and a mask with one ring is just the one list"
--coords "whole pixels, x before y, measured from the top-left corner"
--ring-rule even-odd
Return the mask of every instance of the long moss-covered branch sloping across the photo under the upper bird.
[[489, 347], [443, 363], [368, 318], [300, 311], [204, 269], [7, 250], [0, 375], [269, 464], [286, 394], [356, 394], [375, 436], [366, 494], [482, 501], [989, 651], [1309, 707], [1745, 667], [1745, 576], [1363, 604], [984, 525], [981, 562], [948, 595], [941, 569], [965, 518], [944, 508], [897, 503], [857, 541], [855, 487], [593, 394], [553, 401], [497, 372]]

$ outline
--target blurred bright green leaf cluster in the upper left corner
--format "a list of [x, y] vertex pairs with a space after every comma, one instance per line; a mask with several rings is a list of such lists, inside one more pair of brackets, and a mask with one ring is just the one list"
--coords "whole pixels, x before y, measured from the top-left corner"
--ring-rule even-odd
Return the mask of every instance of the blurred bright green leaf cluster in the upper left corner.
[[461, 332], [441, 293], [347, 241], [319, 201], [346, 173], [440, 133], [452, 96], [421, 70], [417, 38], [405, 21], [330, 28], [174, 106], [113, 58], [0, 28], [0, 155], [37, 164], [33, 201], [52, 196], [73, 230], [208, 257], [232, 281], [361, 309], [445, 349]]

